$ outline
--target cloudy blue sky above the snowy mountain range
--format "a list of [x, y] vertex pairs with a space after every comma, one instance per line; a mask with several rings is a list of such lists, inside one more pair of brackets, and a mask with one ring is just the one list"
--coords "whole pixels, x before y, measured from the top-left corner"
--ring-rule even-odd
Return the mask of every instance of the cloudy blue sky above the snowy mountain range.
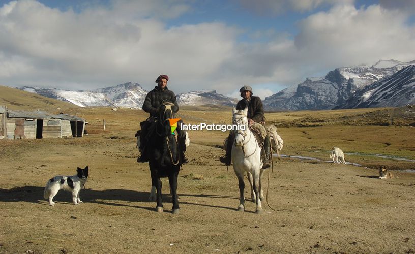
[[0, 85], [264, 99], [343, 66], [415, 60], [415, 0], [0, 0]]

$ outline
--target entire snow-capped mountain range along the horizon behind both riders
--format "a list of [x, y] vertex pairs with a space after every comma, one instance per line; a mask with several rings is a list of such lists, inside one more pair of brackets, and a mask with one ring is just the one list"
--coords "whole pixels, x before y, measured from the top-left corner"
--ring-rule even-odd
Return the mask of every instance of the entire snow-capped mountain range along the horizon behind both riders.
[[[414, 103], [415, 60], [379, 60], [375, 65], [341, 67], [321, 78], [307, 78], [263, 100], [266, 110], [324, 110], [355, 107], [398, 107]], [[87, 91], [21, 87], [45, 97], [85, 106], [112, 106], [141, 109], [148, 91], [138, 83]], [[231, 106], [238, 99], [215, 90], [191, 91], [177, 95], [179, 105]]]

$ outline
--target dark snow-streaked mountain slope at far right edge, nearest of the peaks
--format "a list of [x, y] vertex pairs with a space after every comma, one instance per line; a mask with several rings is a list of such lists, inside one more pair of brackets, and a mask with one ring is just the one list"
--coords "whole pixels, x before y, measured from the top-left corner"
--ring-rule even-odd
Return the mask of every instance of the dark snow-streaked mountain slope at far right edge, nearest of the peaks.
[[401, 107], [407, 104], [415, 104], [415, 65], [366, 86], [338, 108]]

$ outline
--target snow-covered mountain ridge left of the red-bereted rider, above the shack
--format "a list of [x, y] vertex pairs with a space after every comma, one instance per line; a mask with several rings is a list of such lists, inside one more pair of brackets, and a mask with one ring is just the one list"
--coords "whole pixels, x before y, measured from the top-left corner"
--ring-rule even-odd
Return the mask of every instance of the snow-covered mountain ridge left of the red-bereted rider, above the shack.
[[125, 83], [89, 91], [70, 91], [49, 88], [20, 87], [21, 90], [35, 92], [45, 97], [67, 101], [80, 107], [116, 106], [141, 109], [147, 91], [141, 85]]

